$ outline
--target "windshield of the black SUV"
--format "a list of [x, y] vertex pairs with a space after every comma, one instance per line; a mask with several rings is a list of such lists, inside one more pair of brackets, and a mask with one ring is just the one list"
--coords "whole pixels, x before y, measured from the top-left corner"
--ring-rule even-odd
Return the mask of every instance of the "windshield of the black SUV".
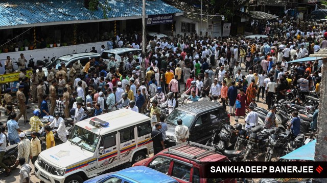
[[177, 126], [177, 120], [181, 119], [183, 121], [183, 125], [190, 128], [194, 118], [195, 116], [188, 112], [175, 109], [169, 114], [169, 116], [167, 116], [166, 123]]

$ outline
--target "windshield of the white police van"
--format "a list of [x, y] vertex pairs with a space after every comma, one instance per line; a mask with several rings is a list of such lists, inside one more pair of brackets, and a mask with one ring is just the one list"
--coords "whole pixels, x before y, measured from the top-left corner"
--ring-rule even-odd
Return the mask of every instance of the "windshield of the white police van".
[[99, 135], [75, 125], [68, 140], [69, 142], [93, 153], [97, 147]]

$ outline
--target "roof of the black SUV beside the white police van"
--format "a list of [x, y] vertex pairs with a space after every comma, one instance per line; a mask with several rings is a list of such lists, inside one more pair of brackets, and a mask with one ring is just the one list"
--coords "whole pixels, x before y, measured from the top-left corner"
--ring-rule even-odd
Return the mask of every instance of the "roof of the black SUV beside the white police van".
[[182, 105], [182, 106], [178, 107], [177, 109], [188, 112], [193, 115], [196, 115], [198, 113], [201, 114], [206, 111], [211, 111], [213, 109], [218, 109], [218, 108], [223, 109], [223, 107], [220, 104], [217, 104], [215, 102], [198, 101], [198, 102], [192, 102], [190, 104]]

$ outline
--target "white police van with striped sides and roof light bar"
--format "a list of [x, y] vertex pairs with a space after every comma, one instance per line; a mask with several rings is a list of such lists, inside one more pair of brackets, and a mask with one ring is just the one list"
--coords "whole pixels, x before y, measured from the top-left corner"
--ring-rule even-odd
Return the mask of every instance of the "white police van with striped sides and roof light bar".
[[35, 175], [44, 182], [82, 183], [104, 170], [153, 153], [151, 119], [120, 109], [75, 124], [68, 140], [41, 152]]

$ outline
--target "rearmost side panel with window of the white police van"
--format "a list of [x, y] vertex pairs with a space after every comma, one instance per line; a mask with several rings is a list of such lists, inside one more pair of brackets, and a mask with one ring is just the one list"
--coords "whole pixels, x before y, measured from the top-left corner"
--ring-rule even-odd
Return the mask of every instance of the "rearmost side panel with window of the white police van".
[[151, 121], [136, 125], [137, 130], [137, 147], [147, 146], [148, 149], [152, 148], [153, 143], [151, 140], [152, 125]]

